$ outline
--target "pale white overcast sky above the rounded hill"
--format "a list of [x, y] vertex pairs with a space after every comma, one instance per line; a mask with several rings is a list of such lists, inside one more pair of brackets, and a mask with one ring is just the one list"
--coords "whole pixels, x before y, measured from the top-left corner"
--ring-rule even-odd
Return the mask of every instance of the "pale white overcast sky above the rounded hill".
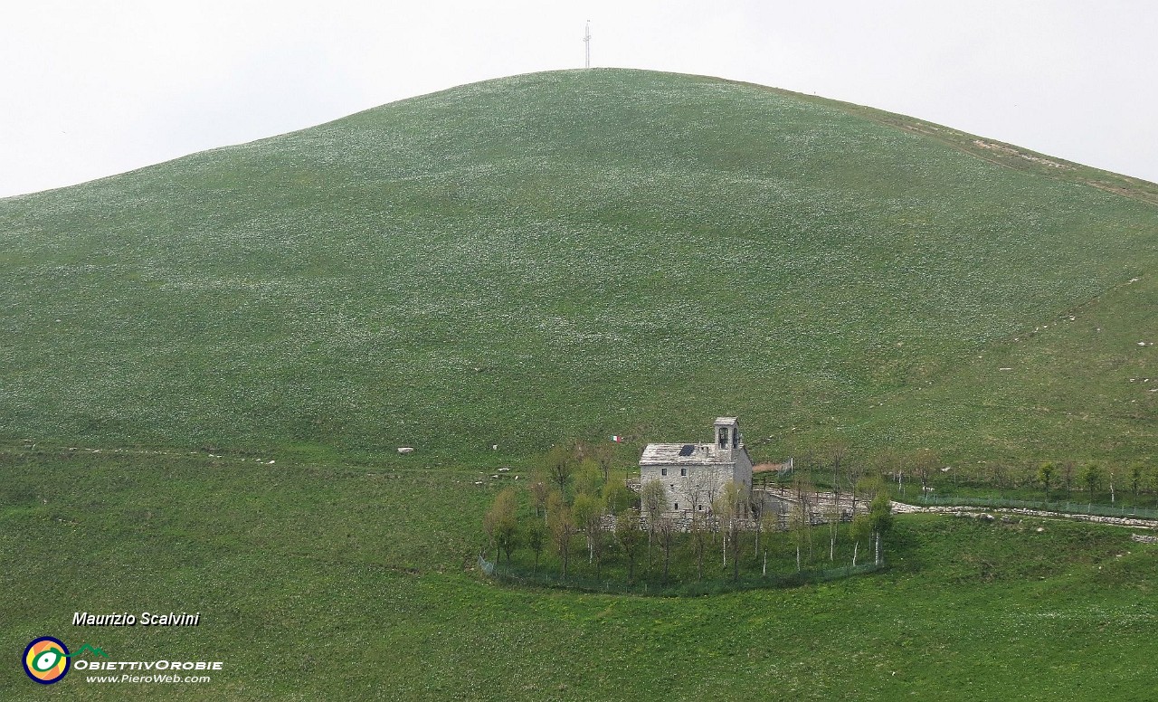
[[816, 93], [1158, 181], [1151, 0], [0, 3], [0, 197], [592, 65]]

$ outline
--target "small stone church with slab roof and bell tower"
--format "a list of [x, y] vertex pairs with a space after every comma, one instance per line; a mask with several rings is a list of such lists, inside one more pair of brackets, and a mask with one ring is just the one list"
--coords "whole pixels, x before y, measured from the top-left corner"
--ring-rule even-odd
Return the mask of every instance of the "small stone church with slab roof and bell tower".
[[660, 481], [675, 513], [710, 512], [724, 485], [752, 490], [752, 458], [735, 417], [717, 417], [710, 444], [648, 444], [639, 459], [639, 484]]

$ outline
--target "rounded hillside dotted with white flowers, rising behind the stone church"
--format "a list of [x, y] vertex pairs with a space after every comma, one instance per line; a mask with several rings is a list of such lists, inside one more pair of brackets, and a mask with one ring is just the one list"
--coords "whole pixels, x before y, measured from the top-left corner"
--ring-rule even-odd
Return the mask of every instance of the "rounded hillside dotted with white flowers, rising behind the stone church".
[[485, 461], [735, 414], [769, 458], [1146, 454], [1150, 185], [975, 141], [573, 71], [0, 200], [0, 438]]

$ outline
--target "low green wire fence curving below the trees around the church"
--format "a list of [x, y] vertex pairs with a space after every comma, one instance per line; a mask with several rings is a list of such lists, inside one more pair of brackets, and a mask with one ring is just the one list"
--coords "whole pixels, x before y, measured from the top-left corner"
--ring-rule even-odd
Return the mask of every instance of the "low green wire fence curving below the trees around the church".
[[557, 590], [578, 590], [580, 592], [596, 592], [604, 594], [696, 597], [748, 590], [796, 587], [811, 583], [827, 583], [851, 576], [875, 572], [884, 569], [885, 564], [865, 563], [856, 566], [846, 565], [827, 570], [802, 570], [799, 572], [776, 573], [769, 576], [746, 575], [734, 580], [732, 578], [712, 578], [688, 583], [657, 583], [654, 580], [626, 583], [616, 579], [598, 579], [581, 576], [567, 576], [566, 578], [563, 578], [558, 573], [545, 570], [528, 572], [526, 570], [501, 565], [499, 563], [492, 563], [483, 556], [478, 556], [478, 568], [496, 580], [512, 585], [550, 587]]

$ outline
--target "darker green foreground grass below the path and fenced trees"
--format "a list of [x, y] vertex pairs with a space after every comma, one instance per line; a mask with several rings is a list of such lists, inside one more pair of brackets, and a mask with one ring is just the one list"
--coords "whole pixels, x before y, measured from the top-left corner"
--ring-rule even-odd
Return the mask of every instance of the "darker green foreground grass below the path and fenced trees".
[[[1158, 547], [1120, 528], [904, 517], [882, 573], [609, 597], [472, 572], [493, 497], [472, 470], [87, 454], [6, 474], [0, 648], [52, 634], [226, 663], [161, 696], [1143, 700], [1158, 683]], [[78, 609], [146, 608], [203, 622], [69, 626]], [[157, 696], [78, 671], [42, 689], [9, 661], [5, 700]]]

